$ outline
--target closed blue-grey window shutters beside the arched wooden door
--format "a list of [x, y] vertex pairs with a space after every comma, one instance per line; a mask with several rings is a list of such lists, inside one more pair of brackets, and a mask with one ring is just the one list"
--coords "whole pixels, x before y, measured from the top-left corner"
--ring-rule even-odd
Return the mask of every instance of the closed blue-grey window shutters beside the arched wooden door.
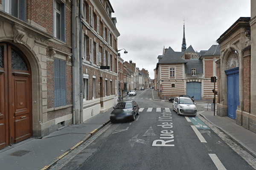
[[66, 62], [54, 59], [54, 107], [67, 104]]

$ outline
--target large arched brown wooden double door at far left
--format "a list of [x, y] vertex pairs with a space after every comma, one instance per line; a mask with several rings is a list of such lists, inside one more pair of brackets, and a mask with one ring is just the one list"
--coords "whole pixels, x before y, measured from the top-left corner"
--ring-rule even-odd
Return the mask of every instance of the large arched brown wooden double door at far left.
[[31, 68], [17, 48], [0, 44], [0, 148], [30, 136]]

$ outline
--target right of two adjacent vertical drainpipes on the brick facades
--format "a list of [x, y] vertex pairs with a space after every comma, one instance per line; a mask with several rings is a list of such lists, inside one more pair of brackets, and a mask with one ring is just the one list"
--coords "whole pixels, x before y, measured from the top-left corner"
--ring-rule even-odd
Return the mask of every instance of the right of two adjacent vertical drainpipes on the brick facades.
[[83, 59], [82, 59], [82, 11], [83, 11], [83, 0], [79, 0], [79, 25], [80, 25], [80, 36], [79, 36], [79, 55], [80, 55], [80, 123], [83, 123]]

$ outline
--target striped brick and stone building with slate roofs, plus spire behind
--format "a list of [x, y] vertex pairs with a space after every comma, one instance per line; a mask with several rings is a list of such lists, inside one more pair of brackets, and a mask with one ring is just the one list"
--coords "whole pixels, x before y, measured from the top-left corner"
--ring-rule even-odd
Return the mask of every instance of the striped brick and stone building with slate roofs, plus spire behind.
[[[163, 48], [163, 54], [157, 58], [154, 87], [161, 99], [182, 94], [194, 96], [195, 100], [214, 98], [211, 77], [216, 76], [215, 62], [220, 58], [219, 45], [212, 45], [208, 50], [200, 52], [195, 51], [192, 45], [186, 48], [184, 25], [181, 52], [171, 47]], [[217, 85], [218, 81], [215, 84], [216, 91]]]

